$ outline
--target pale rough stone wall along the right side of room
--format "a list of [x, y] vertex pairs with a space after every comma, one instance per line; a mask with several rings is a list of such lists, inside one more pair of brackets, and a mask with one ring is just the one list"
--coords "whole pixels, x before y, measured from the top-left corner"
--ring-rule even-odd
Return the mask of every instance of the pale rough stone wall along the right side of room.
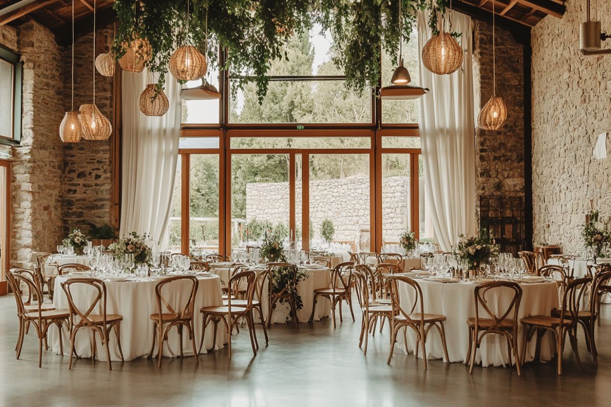
[[[532, 31], [533, 234], [565, 253], [583, 246], [590, 200], [611, 217], [611, 158], [592, 157], [598, 134], [611, 130], [611, 71], [609, 56], [579, 52], [584, 3], [567, 1], [562, 20], [546, 17]], [[598, 18], [609, 31], [611, 2], [598, 1]]]

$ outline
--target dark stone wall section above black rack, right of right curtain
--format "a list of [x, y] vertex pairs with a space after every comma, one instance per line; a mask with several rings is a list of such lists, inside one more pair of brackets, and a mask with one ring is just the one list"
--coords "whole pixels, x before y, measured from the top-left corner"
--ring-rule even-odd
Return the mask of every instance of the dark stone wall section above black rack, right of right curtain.
[[[474, 23], [475, 115], [492, 96], [492, 25]], [[524, 196], [524, 47], [510, 32], [496, 28], [496, 93], [507, 105], [498, 131], [476, 129], [477, 198]]]

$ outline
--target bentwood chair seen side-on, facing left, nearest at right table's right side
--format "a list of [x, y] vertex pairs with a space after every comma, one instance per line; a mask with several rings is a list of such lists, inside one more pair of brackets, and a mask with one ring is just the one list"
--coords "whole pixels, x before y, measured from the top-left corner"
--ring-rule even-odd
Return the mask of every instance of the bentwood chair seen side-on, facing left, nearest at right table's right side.
[[574, 279], [568, 284], [562, 296], [562, 308], [558, 316], [548, 315], [533, 315], [520, 320], [524, 325], [524, 344], [522, 345], [522, 361], [526, 354], [526, 345], [536, 333], [536, 353], [535, 359], [540, 355], [541, 337], [546, 331], [550, 331], [556, 340], [556, 357], [558, 361], [558, 375], [562, 375], [562, 350], [565, 345], [566, 335], [568, 334], [571, 342], [571, 348], [577, 359], [577, 366], [581, 370], [581, 361], [579, 359], [579, 350], [577, 350], [577, 323], [579, 319], [579, 304], [584, 295], [585, 290], [591, 283], [592, 279], [579, 278]]

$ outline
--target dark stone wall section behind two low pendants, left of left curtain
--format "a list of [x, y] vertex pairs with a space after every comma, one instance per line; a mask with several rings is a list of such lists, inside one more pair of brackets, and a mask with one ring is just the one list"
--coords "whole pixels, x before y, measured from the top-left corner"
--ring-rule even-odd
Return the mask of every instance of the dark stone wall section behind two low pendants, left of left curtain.
[[[112, 28], [96, 32], [97, 51], [108, 51], [112, 42]], [[75, 41], [75, 99], [74, 109], [93, 101], [93, 34]], [[71, 51], [64, 51], [64, 108], [71, 109]], [[113, 78], [95, 72], [95, 104], [111, 120]], [[111, 220], [111, 139], [64, 144], [62, 183], [63, 230], [89, 230], [87, 223], [109, 223]]]

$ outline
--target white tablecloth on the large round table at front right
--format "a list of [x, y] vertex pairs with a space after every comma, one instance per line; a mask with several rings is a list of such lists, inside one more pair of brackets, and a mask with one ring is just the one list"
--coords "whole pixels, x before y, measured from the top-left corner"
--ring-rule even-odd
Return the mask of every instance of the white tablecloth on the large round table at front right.
[[[469, 350], [469, 327], [467, 318], [475, 317], [475, 284], [439, 283], [435, 281], [417, 280], [422, 288], [424, 312], [429, 314], [445, 315], [445, 338], [450, 362], [464, 362]], [[409, 311], [413, 301], [413, 289], [405, 283], [398, 283], [400, 289], [401, 306]], [[522, 300], [518, 311], [518, 347], [522, 349], [522, 324], [519, 319], [530, 315], [550, 315], [558, 304], [558, 289], [556, 283], [521, 284]], [[494, 292], [494, 295], [493, 295]], [[513, 291], [493, 290], [486, 298], [489, 304], [497, 304], [497, 308], [490, 307], [494, 312], [505, 311], [513, 296]], [[419, 312], [420, 310], [414, 311]], [[497, 314], [499, 315], [499, 314]], [[511, 311], [513, 316], [513, 311]], [[488, 314], [480, 308], [480, 317]], [[403, 347], [401, 333], [397, 335], [398, 344]], [[535, 339], [529, 343], [526, 352], [526, 361], [532, 361], [535, 356]], [[415, 349], [415, 334], [408, 328], [408, 350]], [[426, 353], [429, 359], [441, 359], [444, 355], [441, 338], [436, 330], [429, 331], [426, 338]], [[541, 340], [541, 359], [549, 360], [554, 353], [554, 343], [551, 336], [546, 333]], [[422, 348], [419, 350], [422, 357]], [[477, 363], [483, 361], [483, 366], [500, 366], [507, 364], [507, 341], [499, 335], [486, 335], [475, 359]]]

